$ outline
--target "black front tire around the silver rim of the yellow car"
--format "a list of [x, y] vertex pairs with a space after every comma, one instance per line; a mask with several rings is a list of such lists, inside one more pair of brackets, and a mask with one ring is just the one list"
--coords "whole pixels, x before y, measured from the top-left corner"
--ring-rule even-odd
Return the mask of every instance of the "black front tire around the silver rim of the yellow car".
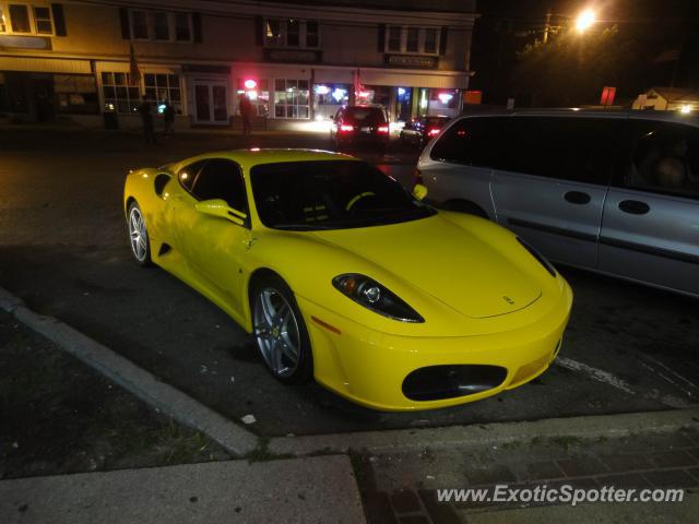
[[[296, 365], [295, 369], [286, 376], [277, 373], [270, 366], [268, 358], [265, 357], [265, 354], [263, 352], [262, 343], [260, 342], [260, 340], [263, 337], [259, 335], [259, 326], [256, 325], [256, 308], [261, 307], [258, 302], [259, 297], [262, 293], [265, 293], [268, 290], [276, 291], [282, 297], [284, 297], [284, 299], [291, 307], [292, 312], [294, 313], [296, 325], [298, 327], [298, 364]], [[262, 357], [262, 361], [264, 362], [268, 371], [276, 380], [284, 384], [301, 384], [304, 382], [308, 382], [313, 377], [313, 353], [311, 349], [310, 337], [308, 336], [306, 322], [304, 321], [304, 317], [301, 315], [301, 312], [298, 309], [298, 305], [296, 303], [294, 291], [292, 291], [288, 285], [276, 275], [265, 275], [261, 278], [258, 278], [253, 283], [250, 290], [250, 311], [252, 314], [252, 336], [254, 340], [254, 345], [260, 352], [260, 356]]]

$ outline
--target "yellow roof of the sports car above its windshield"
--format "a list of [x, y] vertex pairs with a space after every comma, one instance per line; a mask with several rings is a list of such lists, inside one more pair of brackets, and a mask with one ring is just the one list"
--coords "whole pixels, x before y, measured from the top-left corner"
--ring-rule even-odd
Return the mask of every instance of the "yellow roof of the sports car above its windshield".
[[343, 153], [335, 153], [333, 151], [252, 147], [249, 150], [225, 150], [225, 151], [213, 151], [211, 153], [204, 153], [202, 155], [193, 156], [191, 158], [187, 158], [177, 163], [176, 169], [179, 170], [183, 166], [187, 166], [194, 162], [204, 160], [208, 158], [226, 158], [228, 160], [233, 160], [239, 164], [246, 170], [260, 164], [276, 164], [276, 163], [283, 163], [283, 162], [311, 162], [311, 160], [360, 162], [359, 158], [356, 158], [351, 155], [345, 155]]

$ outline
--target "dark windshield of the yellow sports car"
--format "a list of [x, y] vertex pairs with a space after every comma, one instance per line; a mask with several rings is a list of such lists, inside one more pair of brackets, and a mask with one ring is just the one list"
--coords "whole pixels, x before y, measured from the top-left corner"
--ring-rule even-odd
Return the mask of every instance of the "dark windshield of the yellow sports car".
[[436, 213], [364, 162], [261, 164], [250, 175], [260, 219], [275, 229], [380, 226]]

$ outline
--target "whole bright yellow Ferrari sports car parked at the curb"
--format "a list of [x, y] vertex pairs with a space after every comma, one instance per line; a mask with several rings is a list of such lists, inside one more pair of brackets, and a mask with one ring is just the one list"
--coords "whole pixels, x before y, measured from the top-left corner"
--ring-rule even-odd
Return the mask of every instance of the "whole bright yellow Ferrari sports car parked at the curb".
[[226, 311], [275, 378], [410, 410], [532, 380], [572, 303], [531, 246], [425, 191], [342, 154], [248, 150], [132, 171], [123, 203], [137, 262]]

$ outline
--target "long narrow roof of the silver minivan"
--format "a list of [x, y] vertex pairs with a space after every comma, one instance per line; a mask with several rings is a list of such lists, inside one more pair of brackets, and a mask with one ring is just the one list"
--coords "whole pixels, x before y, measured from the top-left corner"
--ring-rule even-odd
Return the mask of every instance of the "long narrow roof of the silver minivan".
[[643, 119], [670, 121], [677, 123], [688, 123], [690, 126], [699, 126], [699, 116], [684, 115], [679, 111], [657, 111], [657, 110], [633, 110], [633, 109], [585, 109], [585, 108], [560, 108], [560, 109], [512, 109], [512, 110], [494, 110], [488, 112], [463, 114], [462, 117], [511, 117], [511, 116], [531, 116], [531, 117], [603, 117], [603, 118], [621, 118], [621, 119]]

